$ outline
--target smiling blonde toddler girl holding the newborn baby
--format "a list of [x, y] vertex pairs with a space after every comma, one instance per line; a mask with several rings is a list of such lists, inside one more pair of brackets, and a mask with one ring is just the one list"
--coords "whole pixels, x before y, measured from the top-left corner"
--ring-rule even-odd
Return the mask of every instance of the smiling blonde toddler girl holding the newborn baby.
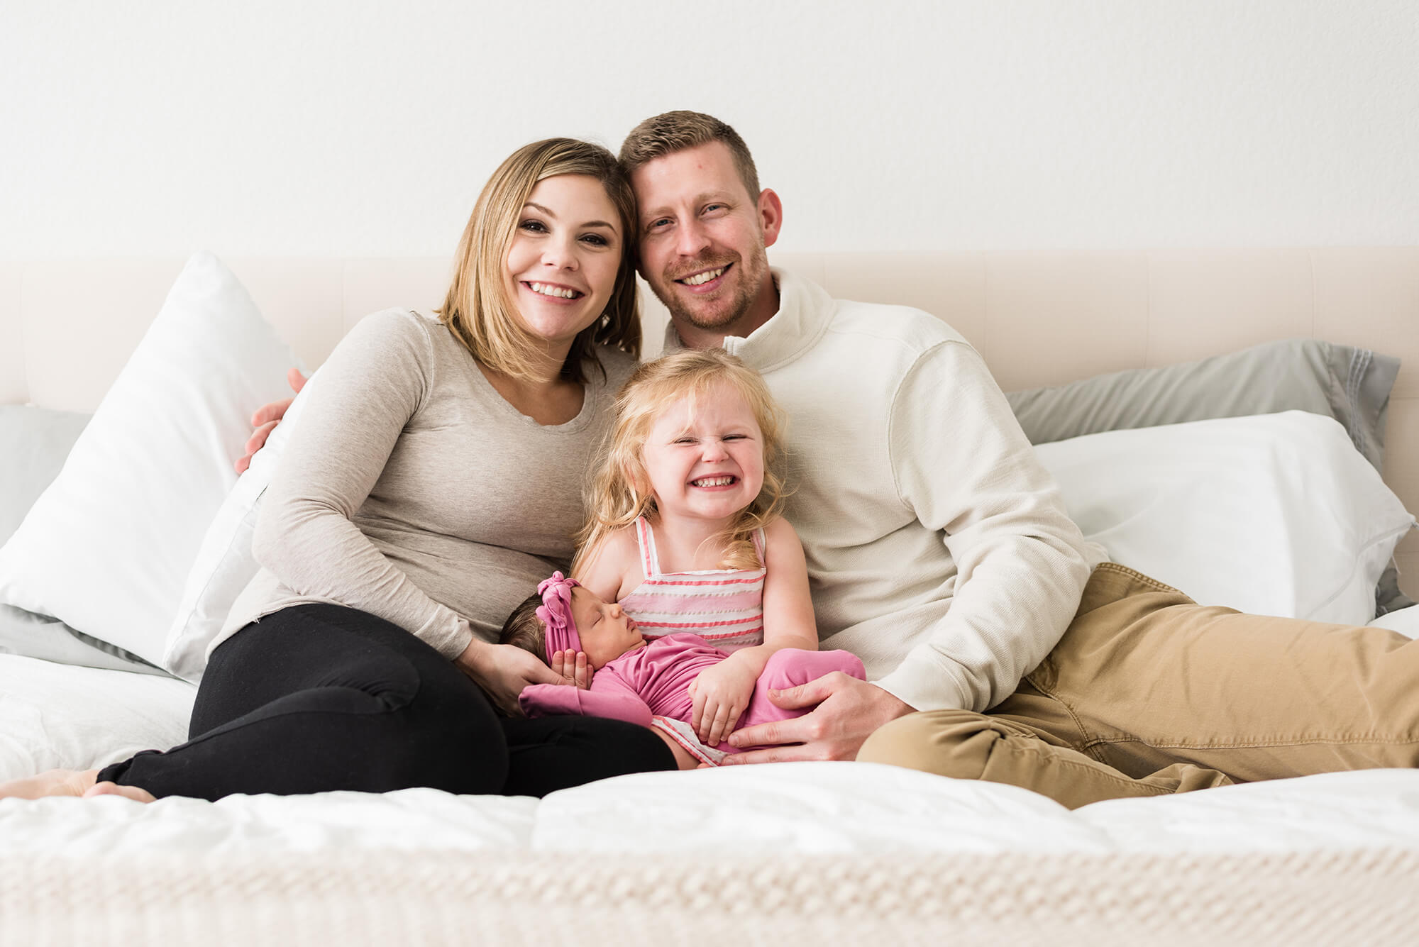
[[[735, 730], [776, 651], [817, 649], [803, 546], [780, 516], [780, 427], [758, 371], [680, 352], [622, 388], [589, 491], [573, 563], [586, 591], [648, 641], [688, 631], [728, 655], [690, 682], [690, 720], [666, 724], [692, 751]], [[576, 661], [551, 663], [573, 678]]]

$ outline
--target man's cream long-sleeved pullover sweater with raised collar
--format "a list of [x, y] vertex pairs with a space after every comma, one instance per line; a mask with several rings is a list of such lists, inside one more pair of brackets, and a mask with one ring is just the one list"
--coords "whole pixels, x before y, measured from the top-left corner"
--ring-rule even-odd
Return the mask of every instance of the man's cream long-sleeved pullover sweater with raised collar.
[[786, 516], [822, 646], [918, 710], [999, 703], [1059, 641], [1104, 551], [949, 326], [773, 275], [778, 315], [724, 347], [788, 413]]

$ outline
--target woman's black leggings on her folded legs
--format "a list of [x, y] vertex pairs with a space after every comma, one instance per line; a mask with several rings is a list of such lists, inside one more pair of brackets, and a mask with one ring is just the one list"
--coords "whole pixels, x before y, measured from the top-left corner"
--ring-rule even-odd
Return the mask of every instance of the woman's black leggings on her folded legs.
[[674, 770], [651, 730], [597, 717], [499, 717], [447, 658], [383, 618], [295, 605], [211, 655], [189, 740], [99, 771], [156, 797], [234, 792], [545, 795], [623, 773]]

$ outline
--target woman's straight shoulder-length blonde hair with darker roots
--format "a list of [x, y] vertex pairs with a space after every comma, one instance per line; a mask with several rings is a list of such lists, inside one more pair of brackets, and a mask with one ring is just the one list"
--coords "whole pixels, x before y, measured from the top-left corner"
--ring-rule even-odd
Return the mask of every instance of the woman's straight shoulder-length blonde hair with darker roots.
[[524, 327], [508, 299], [502, 267], [532, 189], [538, 181], [561, 174], [595, 177], [620, 215], [620, 269], [606, 312], [578, 333], [562, 366], [565, 379], [585, 383], [582, 366], [595, 359], [596, 346], [609, 344], [633, 356], [640, 354], [636, 196], [616, 157], [600, 145], [549, 138], [519, 147], [492, 172], [463, 231], [453, 285], [437, 312], [454, 337], [485, 367], [514, 377], [534, 373], [543, 343]]

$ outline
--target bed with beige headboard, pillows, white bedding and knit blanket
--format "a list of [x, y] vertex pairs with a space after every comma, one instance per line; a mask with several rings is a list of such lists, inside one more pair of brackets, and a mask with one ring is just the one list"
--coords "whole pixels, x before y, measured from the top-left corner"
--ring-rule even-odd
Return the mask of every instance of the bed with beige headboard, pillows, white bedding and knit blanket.
[[[1419, 248], [772, 262], [961, 330], [1115, 560], [1419, 637]], [[0, 264], [0, 780], [183, 739], [270, 476], [220, 469], [244, 414], [363, 313], [437, 303], [447, 265]], [[856, 763], [541, 801], [0, 801], [17, 944], [1399, 944], [1416, 885], [1402, 770], [1073, 812]]]

